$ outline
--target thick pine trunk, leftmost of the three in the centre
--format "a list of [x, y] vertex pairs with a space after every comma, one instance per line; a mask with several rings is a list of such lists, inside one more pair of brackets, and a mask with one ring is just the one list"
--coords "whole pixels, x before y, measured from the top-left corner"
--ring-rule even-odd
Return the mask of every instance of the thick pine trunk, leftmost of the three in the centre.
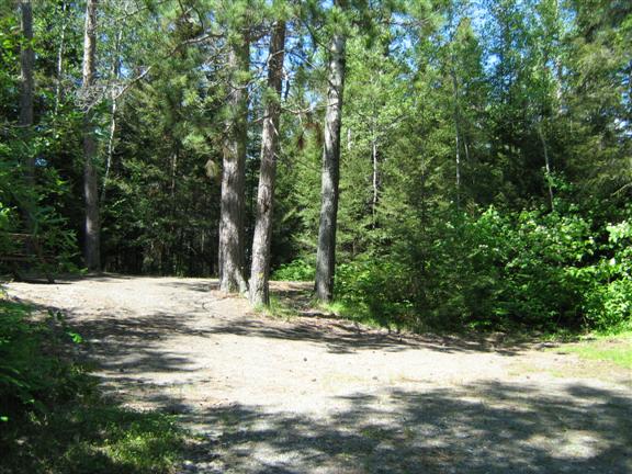
[[222, 169], [222, 203], [219, 217], [219, 290], [245, 293], [244, 279], [244, 211], [246, 180], [246, 142], [248, 121], [248, 81], [250, 44], [244, 37], [230, 45], [227, 67], [232, 79], [227, 103]]

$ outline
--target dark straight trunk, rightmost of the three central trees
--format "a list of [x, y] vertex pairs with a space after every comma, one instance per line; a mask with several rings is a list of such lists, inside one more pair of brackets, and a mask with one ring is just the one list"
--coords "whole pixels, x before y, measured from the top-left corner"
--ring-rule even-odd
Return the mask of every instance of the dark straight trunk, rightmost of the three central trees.
[[329, 47], [329, 88], [325, 113], [320, 224], [318, 228], [318, 250], [316, 252], [315, 296], [321, 302], [330, 302], [334, 297], [338, 183], [340, 180], [340, 125], [342, 122], [342, 92], [345, 87], [345, 35], [341, 32], [334, 33]]

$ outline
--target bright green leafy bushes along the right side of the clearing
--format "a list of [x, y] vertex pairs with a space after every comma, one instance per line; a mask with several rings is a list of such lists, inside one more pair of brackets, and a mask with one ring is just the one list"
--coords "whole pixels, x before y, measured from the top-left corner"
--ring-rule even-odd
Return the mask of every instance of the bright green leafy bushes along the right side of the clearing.
[[632, 326], [632, 225], [560, 212], [447, 214], [392, 255], [339, 266], [336, 294], [413, 329]]

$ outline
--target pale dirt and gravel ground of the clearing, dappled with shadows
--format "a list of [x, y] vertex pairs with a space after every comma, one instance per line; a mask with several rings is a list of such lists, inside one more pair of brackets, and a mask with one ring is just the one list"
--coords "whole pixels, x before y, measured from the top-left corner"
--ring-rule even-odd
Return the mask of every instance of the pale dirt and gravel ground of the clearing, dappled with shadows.
[[632, 374], [552, 345], [271, 319], [210, 280], [8, 287], [66, 313], [108, 391], [199, 433], [183, 473], [632, 473]]

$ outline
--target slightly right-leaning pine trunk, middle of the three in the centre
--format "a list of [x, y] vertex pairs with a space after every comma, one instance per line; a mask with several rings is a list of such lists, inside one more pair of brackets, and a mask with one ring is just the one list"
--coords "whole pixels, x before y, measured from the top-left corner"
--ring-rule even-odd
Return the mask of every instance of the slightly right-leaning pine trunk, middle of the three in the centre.
[[261, 133], [261, 168], [257, 193], [257, 219], [252, 239], [252, 267], [250, 273], [250, 303], [270, 304], [270, 244], [272, 240], [272, 207], [276, 174], [276, 148], [279, 143], [279, 117], [281, 114], [281, 87], [283, 80], [283, 56], [285, 48], [285, 22], [278, 21], [270, 38], [268, 64], [268, 88], [274, 97], [268, 98], [263, 131]]

